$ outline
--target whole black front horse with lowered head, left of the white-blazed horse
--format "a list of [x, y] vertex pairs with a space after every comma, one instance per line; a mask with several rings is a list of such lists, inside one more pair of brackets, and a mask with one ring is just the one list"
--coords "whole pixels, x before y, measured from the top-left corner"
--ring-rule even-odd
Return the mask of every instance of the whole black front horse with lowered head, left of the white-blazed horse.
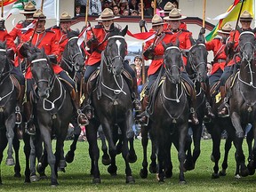
[[[51, 167], [51, 184], [58, 185], [57, 169], [65, 164], [64, 140], [68, 132], [68, 124], [72, 117], [72, 99], [53, 69], [44, 53], [36, 47], [28, 47], [28, 62], [36, 84], [36, 103], [34, 115], [44, 141], [44, 164], [37, 165], [38, 170], [44, 170], [47, 164]], [[52, 138], [56, 138], [56, 152], [52, 153]], [[47, 156], [46, 156], [46, 154]], [[47, 163], [45, 159], [47, 157]]]

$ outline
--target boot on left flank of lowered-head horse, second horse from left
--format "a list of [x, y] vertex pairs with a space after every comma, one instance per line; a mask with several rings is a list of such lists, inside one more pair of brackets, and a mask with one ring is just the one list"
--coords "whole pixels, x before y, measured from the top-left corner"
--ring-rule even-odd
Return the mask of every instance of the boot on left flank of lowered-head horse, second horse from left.
[[24, 103], [24, 112], [27, 117], [27, 122], [25, 123], [25, 132], [27, 131], [28, 134], [35, 135], [36, 126], [35, 124], [33, 124], [32, 111], [33, 111], [33, 104], [28, 100], [26, 103]]

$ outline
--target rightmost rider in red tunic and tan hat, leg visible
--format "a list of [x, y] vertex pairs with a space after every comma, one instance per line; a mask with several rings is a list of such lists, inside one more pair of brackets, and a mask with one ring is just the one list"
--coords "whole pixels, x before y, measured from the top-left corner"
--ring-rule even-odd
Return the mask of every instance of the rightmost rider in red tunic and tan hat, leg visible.
[[[251, 24], [252, 24], [252, 14], [246, 10], [242, 12], [240, 15], [240, 23], [241, 23], [241, 31], [252, 31]], [[228, 113], [228, 98], [226, 98], [226, 92], [225, 92], [225, 84], [228, 80], [228, 77], [233, 74], [233, 68], [235, 67], [236, 62], [239, 62], [241, 59], [236, 57], [236, 61], [233, 58], [233, 55], [238, 52], [237, 46], [239, 44], [239, 36], [240, 32], [238, 30], [231, 31], [230, 36], [228, 37], [228, 43], [227, 43], [227, 51], [228, 52], [228, 58], [231, 58], [231, 60], [228, 60], [227, 66], [224, 68], [222, 76], [220, 76], [220, 95], [221, 95], [221, 101], [222, 105], [219, 108], [218, 116], [220, 117], [227, 117], [229, 116]]]

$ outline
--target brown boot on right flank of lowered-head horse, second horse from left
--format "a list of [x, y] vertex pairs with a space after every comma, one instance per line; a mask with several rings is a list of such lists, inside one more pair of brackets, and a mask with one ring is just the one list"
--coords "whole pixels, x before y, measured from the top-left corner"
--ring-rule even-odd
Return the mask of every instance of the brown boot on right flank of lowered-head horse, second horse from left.
[[[75, 92], [75, 90], [73, 91]], [[72, 93], [71, 93], [72, 94]], [[74, 108], [74, 114], [77, 116], [77, 124], [79, 125], [87, 125], [89, 124], [89, 120], [87, 116], [82, 113], [80, 106], [80, 97], [79, 92], [75, 92], [75, 100], [72, 100], [73, 108]]]

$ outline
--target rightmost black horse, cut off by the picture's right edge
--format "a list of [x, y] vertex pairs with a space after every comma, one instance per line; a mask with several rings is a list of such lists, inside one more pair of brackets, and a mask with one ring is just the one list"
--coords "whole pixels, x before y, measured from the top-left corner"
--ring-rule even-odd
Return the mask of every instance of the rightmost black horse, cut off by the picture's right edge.
[[[230, 118], [236, 130], [236, 162], [240, 166], [242, 176], [247, 176], [255, 170], [256, 143], [255, 143], [255, 113], [256, 113], [256, 62], [255, 62], [255, 29], [253, 32], [240, 31], [239, 57], [240, 70], [229, 99]], [[244, 152], [242, 148], [244, 140], [244, 129], [246, 124], [252, 124], [254, 145], [252, 148], [252, 161], [248, 168], [244, 165]]]

